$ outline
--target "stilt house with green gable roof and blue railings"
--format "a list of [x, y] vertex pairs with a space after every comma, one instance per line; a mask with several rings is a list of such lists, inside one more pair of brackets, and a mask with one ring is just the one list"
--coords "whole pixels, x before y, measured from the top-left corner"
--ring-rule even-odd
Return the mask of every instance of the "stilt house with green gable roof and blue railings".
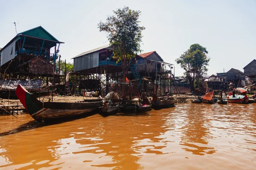
[[[32, 78], [45, 74], [47, 71], [43, 69], [52, 66], [47, 62], [42, 62], [41, 59], [55, 63], [61, 43], [64, 42], [58, 41], [41, 26], [21, 32], [0, 50], [2, 71], [7, 68], [6, 74], [14, 78], [17, 76]], [[57, 44], [58, 48], [56, 48]], [[54, 47], [53, 54], [50, 53], [52, 47]], [[32, 60], [35, 57], [41, 57], [41, 59]], [[30, 67], [26, 67], [28, 62]], [[33, 67], [32, 64], [35, 63], [37, 66]], [[44, 67], [46, 63], [48, 66]]]

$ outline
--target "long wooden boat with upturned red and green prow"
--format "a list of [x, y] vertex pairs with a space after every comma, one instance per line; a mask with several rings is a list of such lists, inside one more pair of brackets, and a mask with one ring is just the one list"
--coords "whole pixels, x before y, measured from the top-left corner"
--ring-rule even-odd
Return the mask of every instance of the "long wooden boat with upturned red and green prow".
[[85, 114], [89, 116], [102, 105], [102, 101], [41, 102], [20, 84], [17, 86], [15, 93], [26, 111], [38, 122], [50, 122], [62, 118], [67, 120], [67, 117], [74, 118]]

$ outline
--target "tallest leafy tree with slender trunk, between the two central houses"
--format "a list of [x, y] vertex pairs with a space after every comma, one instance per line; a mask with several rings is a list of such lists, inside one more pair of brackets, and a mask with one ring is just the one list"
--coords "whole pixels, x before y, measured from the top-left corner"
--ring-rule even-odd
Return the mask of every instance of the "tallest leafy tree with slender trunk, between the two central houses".
[[[139, 16], [141, 11], [134, 11], [129, 7], [119, 8], [113, 11], [114, 15], [108, 16], [106, 22], [100, 21], [98, 24], [99, 31], [108, 34], [108, 40], [113, 45], [113, 57], [122, 65], [122, 82], [129, 68], [132, 57], [140, 50], [140, 42], [142, 42], [142, 31], [145, 27], [140, 26]], [[125, 95], [125, 86], [122, 88], [122, 96]]]

